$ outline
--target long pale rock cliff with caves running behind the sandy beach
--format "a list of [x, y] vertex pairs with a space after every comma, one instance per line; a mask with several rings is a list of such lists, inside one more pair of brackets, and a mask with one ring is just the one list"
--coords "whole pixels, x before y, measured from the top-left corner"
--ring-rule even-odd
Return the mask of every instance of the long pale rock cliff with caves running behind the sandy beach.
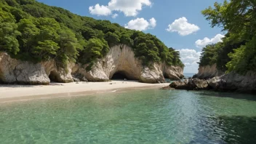
[[114, 73], [122, 73], [128, 79], [145, 83], [164, 82], [164, 76], [172, 80], [183, 78], [183, 68], [165, 63], [143, 66], [132, 48], [124, 44], [111, 47], [108, 54], [98, 59], [90, 71], [88, 65], [70, 63], [68, 68], [58, 68], [54, 60], [31, 63], [0, 53], [0, 81], [4, 84], [49, 84], [55, 82], [109, 81]]

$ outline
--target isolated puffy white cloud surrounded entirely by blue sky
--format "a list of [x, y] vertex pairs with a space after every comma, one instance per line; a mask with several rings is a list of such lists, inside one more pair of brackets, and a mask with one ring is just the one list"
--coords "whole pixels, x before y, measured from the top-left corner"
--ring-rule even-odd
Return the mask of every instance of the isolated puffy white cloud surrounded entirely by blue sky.
[[180, 36], [187, 36], [191, 33], [199, 31], [199, 26], [188, 23], [188, 20], [185, 17], [180, 17], [175, 20], [172, 24], [168, 25], [167, 31], [177, 32]]

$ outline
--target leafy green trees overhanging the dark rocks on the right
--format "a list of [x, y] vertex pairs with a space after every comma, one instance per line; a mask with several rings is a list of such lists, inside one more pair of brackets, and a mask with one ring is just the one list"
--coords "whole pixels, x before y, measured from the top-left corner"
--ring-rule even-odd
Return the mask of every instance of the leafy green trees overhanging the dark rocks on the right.
[[256, 71], [256, 1], [231, 0], [215, 3], [202, 11], [212, 27], [227, 34], [223, 42], [204, 47], [200, 65], [217, 63], [223, 71], [246, 73]]

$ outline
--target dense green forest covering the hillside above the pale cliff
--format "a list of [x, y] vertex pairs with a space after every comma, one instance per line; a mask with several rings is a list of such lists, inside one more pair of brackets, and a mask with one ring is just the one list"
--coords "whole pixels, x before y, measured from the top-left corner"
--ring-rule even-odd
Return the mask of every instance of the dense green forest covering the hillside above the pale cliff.
[[93, 65], [116, 44], [132, 47], [144, 65], [183, 66], [179, 53], [151, 34], [35, 0], [0, 0], [0, 51], [12, 57], [33, 62], [55, 59], [63, 66], [69, 61]]

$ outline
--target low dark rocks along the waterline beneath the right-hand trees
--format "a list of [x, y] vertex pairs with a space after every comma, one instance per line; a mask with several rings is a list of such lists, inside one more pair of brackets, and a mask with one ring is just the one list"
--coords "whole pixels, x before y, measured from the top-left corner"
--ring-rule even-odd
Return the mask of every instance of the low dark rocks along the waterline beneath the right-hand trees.
[[201, 90], [213, 89], [216, 91], [256, 92], [256, 73], [249, 71], [245, 75], [228, 73], [212, 79], [188, 79], [175, 81], [169, 85], [175, 89]]

